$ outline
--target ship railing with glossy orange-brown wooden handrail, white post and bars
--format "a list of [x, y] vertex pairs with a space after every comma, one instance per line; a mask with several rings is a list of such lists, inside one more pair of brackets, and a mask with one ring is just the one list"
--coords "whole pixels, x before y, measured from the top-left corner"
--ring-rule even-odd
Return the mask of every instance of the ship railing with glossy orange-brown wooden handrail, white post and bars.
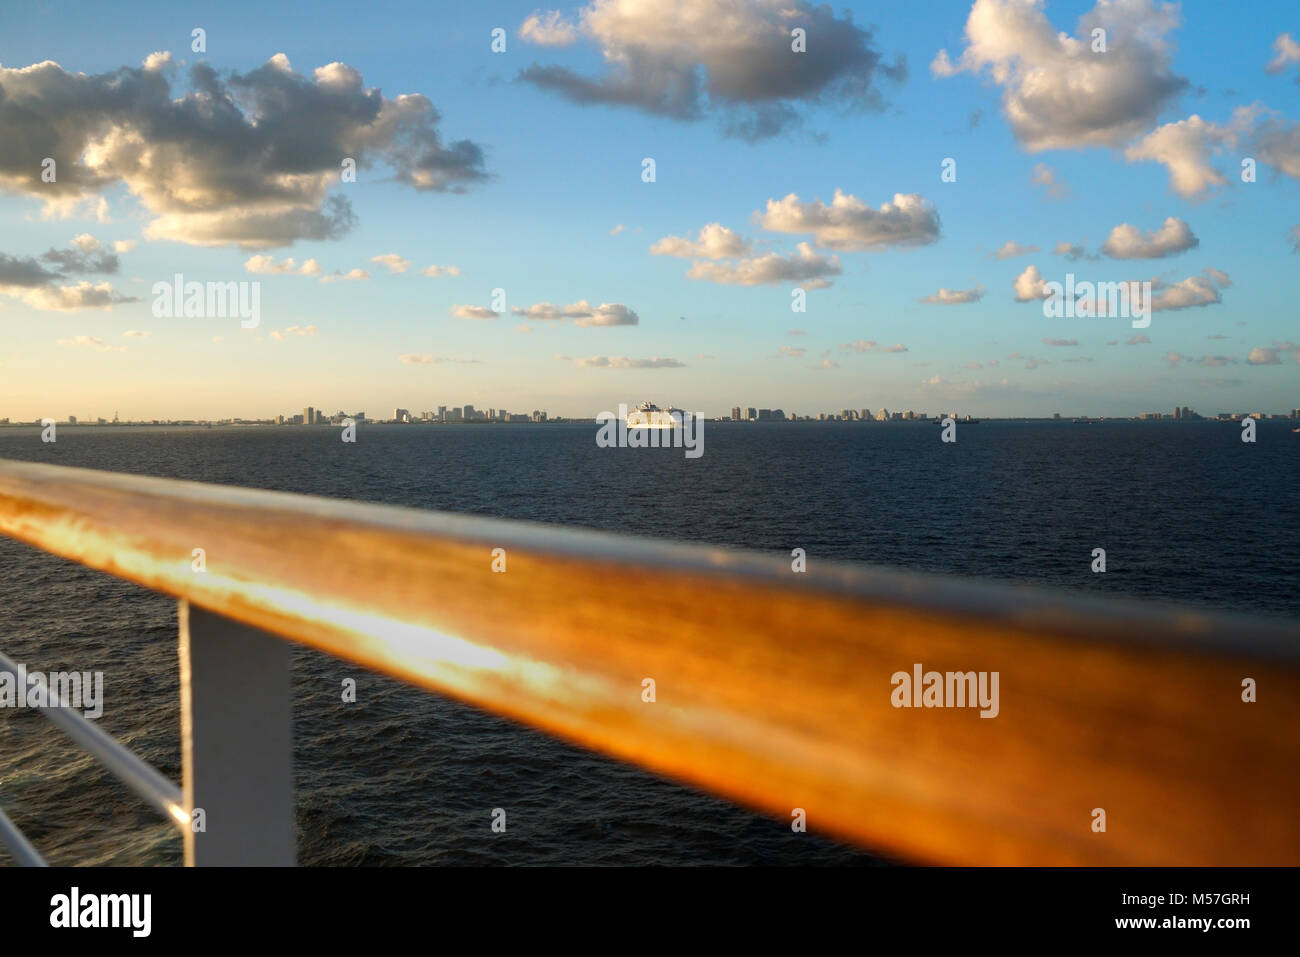
[[178, 599], [179, 787], [46, 711], [188, 865], [295, 861], [289, 642], [898, 859], [1300, 862], [1294, 622], [9, 460], [0, 533]]

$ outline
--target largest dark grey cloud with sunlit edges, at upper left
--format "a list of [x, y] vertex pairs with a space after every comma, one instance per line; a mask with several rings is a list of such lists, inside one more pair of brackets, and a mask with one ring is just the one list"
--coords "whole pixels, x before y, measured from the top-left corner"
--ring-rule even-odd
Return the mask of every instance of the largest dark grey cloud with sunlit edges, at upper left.
[[416, 190], [486, 178], [482, 148], [445, 144], [426, 96], [387, 99], [344, 64], [309, 78], [283, 55], [247, 73], [198, 64], [178, 91], [173, 73], [165, 53], [101, 74], [0, 69], [0, 187], [68, 202], [121, 182], [155, 213], [150, 237], [264, 247], [352, 228], [347, 199], [328, 195], [346, 157], [359, 178], [386, 166]]

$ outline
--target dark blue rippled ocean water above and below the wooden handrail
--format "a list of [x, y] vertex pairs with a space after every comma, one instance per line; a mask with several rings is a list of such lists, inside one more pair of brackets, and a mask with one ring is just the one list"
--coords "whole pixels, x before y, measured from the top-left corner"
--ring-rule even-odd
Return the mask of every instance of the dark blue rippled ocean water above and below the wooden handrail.
[[[1261, 423], [1245, 445], [1217, 423], [983, 423], [944, 445], [928, 424], [708, 423], [686, 459], [598, 449], [590, 424], [368, 425], [356, 445], [326, 428], [69, 426], [53, 445], [9, 428], [0, 458], [1300, 619], [1290, 429]], [[104, 671], [101, 727], [179, 780], [173, 601], [0, 538], [0, 650]], [[307, 649], [294, 720], [306, 865], [887, 862]], [[169, 824], [32, 711], [0, 711], [0, 807], [52, 863], [181, 858]]]

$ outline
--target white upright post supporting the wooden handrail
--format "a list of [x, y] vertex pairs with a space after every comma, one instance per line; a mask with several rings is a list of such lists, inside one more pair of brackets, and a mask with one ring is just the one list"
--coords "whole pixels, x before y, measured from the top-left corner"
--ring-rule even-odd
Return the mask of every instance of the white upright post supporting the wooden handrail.
[[[289, 644], [181, 601], [186, 866], [294, 865]], [[202, 828], [202, 830], [196, 830]]]

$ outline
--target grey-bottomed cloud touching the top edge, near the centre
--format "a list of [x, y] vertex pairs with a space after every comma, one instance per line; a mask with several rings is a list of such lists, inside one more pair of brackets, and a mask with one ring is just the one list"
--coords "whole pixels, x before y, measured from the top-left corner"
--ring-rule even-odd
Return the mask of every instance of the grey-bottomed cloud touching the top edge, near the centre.
[[[805, 31], [805, 52], [792, 49], [796, 29]], [[905, 62], [884, 65], [852, 14], [803, 0], [594, 0], [571, 30], [601, 48], [602, 74], [551, 64], [519, 79], [575, 103], [676, 120], [716, 109], [724, 133], [749, 140], [802, 122], [797, 104], [879, 109], [876, 79], [906, 78]]]

